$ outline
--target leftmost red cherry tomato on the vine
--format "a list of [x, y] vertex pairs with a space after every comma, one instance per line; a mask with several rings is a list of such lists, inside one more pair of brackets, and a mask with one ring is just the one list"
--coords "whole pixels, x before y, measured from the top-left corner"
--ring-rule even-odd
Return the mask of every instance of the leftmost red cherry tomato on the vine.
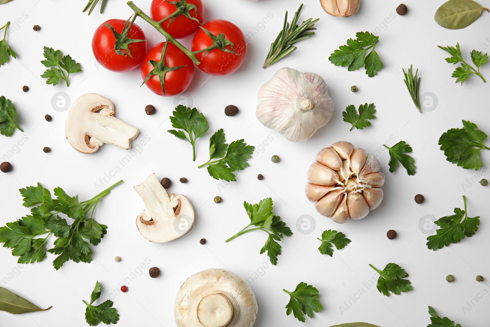
[[[112, 30], [105, 24], [114, 27], [116, 32], [122, 33], [126, 21], [122, 19], [110, 19], [97, 27], [94, 37], [92, 38], [92, 51], [98, 63], [105, 69], [113, 72], [128, 72], [138, 67], [147, 52], [147, 42], [134, 42], [129, 44], [128, 49], [131, 56], [123, 51], [126, 55], [116, 53], [114, 46], [116, 37]], [[128, 32], [128, 37], [134, 40], [146, 40], [145, 33], [140, 26], [133, 24]]]

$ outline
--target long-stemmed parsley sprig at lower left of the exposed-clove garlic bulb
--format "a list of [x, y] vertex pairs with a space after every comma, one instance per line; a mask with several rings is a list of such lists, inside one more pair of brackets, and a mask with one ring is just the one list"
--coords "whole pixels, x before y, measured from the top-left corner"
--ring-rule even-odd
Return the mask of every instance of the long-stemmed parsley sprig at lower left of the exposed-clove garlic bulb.
[[[252, 230], [263, 230], [269, 234], [266, 244], [260, 250], [260, 254], [267, 251], [270, 263], [274, 266], [277, 264], [277, 256], [281, 254], [281, 245], [276, 241], [280, 241], [284, 236], [291, 236], [293, 232], [286, 223], [281, 221], [281, 217], [272, 213], [272, 199], [266, 198], [257, 204], [249, 204], [244, 202], [246, 213], [250, 218], [250, 224], [244, 229], [236, 233], [234, 236], [226, 240], [229, 242], [234, 238], [248, 233]], [[249, 228], [255, 226], [254, 228]]]

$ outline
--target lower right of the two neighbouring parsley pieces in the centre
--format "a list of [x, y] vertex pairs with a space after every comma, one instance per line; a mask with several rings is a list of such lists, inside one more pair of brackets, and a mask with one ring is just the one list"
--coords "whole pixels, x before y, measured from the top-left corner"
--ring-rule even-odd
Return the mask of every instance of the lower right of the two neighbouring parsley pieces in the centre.
[[[209, 160], [197, 168], [208, 165], [208, 173], [215, 179], [236, 181], [233, 174], [237, 170], [248, 167], [247, 160], [252, 157], [255, 147], [247, 145], [244, 140], [233, 141], [229, 145], [225, 143], [223, 129], [219, 129], [209, 139]], [[226, 154], [225, 154], [226, 153]], [[218, 160], [212, 161], [213, 159]]]

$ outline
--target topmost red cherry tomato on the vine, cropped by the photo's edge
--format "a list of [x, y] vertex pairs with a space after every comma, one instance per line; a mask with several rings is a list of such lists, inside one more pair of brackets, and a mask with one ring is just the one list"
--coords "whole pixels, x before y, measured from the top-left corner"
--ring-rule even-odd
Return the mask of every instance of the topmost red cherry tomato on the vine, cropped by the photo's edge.
[[[182, 14], [178, 15], [173, 20], [172, 24], [170, 24], [172, 18], [169, 18], [163, 22], [162, 28], [176, 39], [182, 39], [195, 33], [204, 19], [204, 6], [202, 5], [201, 0], [180, 0], [179, 2], [185, 2], [187, 5], [195, 5], [197, 7], [197, 14], [195, 8], [190, 9], [189, 14], [192, 17], [197, 18], [200, 23]], [[153, 0], [151, 1], [150, 7], [151, 19], [159, 22], [162, 19], [172, 15], [177, 10], [178, 6], [178, 4], [170, 3], [167, 0]]]

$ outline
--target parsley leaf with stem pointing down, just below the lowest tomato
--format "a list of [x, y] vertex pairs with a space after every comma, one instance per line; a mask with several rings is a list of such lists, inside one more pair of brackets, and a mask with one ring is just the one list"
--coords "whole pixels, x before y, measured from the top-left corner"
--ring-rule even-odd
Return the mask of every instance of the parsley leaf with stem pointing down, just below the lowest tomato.
[[191, 109], [182, 104], [179, 104], [172, 114], [173, 116], [170, 116], [172, 127], [185, 130], [188, 136], [181, 130], [171, 129], [168, 132], [192, 144], [192, 160], [196, 161], [196, 139], [209, 129], [206, 117], [199, 113], [196, 108]]

